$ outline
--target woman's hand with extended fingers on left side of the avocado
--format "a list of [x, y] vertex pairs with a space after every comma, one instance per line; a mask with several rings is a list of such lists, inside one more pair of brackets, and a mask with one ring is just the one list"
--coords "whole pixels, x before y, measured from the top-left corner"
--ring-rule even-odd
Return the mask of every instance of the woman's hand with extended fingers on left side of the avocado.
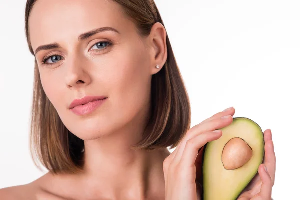
[[[189, 129], [176, 149], [163, 161], [166, 200], [196, 200], [201, 198], [196, 184], [198, 151], [207, 142], [222, 136], [220, 129], [233, 121], [234, 108], [219, 112]], [[221, 118], [227, 116], [228, 118]], [[198, 165], [198, 171], [202, 166]]]

